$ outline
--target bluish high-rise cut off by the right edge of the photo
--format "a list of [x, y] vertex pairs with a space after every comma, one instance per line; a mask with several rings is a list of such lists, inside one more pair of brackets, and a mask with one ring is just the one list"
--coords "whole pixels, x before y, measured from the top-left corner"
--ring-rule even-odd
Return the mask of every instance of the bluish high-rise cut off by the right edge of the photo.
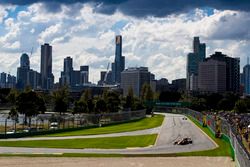
[[247, 60], [247, 65], [243, 68], [242, 83], [244, 85], [244, 94], [250, 95], [250, 64]]

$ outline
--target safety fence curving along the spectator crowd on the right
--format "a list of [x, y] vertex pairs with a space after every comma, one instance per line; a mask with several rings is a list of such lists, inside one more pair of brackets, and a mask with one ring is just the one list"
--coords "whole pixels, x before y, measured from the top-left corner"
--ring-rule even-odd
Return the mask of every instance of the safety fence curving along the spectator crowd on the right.
[[[201, 112], [197, 112], [188, 108], [171, 108], [163, 106], [156, 107], [155, 111], [189, 115], [195, 118], [200, 124], [203, 124], [205, 120], [207, 126], [213, 131], [214, 134], [218, 130], [216, 129], [218, 128], [218, 122], [216, 122], [218, 120], [217, 115], [204, 115]], [[239, 167], [250, 167], [250, 153], [245, 148], [241, 135], [238, 133], [236, 126], [229, 124], [227, 120], [220, 117], [219, 130], [223, 136], [230, 141], [231, 146], [233, 147], [235, 154], [233, 158], [236, 161], [236, 165]]]

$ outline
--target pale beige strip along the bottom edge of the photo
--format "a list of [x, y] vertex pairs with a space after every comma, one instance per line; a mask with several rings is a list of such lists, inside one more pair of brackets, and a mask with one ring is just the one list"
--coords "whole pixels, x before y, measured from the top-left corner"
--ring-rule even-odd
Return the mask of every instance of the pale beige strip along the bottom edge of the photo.
[[229, 157], [0, 158], [2, 167], [234, 167]]

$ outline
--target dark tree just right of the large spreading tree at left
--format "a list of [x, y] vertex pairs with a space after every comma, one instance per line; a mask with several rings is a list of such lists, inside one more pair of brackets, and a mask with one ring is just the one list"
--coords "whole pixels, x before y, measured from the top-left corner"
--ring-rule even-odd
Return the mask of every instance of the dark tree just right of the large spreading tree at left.
[[64, 86], [52, 93], [54, 112], [65, 113], [69, 105], [69, 90]]

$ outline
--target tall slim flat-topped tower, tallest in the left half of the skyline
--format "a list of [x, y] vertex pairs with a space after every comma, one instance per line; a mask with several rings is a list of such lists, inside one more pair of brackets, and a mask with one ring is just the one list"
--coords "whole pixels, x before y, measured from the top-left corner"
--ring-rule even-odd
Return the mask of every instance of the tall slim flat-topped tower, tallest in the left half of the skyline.
[[45, 43], [41, 46], [41, 83], [42, 89], [50, 90], [54, 85], [52, 74], [52, 46]]

